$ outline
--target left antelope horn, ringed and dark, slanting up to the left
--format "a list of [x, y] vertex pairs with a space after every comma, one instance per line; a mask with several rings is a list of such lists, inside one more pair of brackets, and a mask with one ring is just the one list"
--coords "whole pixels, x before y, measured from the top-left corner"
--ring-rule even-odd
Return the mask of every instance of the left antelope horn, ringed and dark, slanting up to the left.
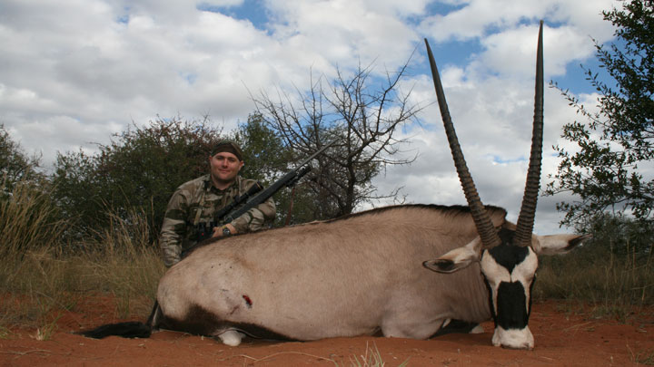
[[445, 101], [445, 93], [442, 90], [441, 77], [426, 38], [425, 44], [427, 45], [427, 54], [429, 55], [431, 65], [431, 76], [433, 77], [434, 88], [436, 88], [436, 96], [438, 97], [439, 108], [441, 109], [443, 126], [445, 127], [448, 141], [450, 142], [452, 159], [454, 159], [454, 166], [456, 166], [457, 173], [459, 174], [463, 194], [468, 201], [468, 206], [471, 208], [472, 219], [474, 220], [475, 227], [477, 227], [477, 233], [479, 233], [481, 237], [481, 244], [484, 248], [498, 246], [501, 243], [500, 237], [498, 236], [488, 213], [486, 213], [486, 209], [481, 203], [481, 199], [477, 193], [477, 188], [475, 188], [465, 158], [463, 158], [461, 145], [459, 145], [459, 139], [456, 136], [456, 131], [454, 131], [454, 125], [451, 121], [447, 101]]

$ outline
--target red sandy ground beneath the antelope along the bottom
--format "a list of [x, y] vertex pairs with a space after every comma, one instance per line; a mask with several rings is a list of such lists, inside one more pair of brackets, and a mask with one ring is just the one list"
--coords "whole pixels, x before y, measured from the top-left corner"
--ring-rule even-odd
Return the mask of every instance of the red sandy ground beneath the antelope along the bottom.
[[60, 314], [57, 331], [47, 341], [37, 341], [35, 330], [26, 328], [12, 330], [0, 339], [0, 366], [352, 366], [365, 365], [362, 355], [375, 348], [386, 366], [402, 362], [408, 366], [630, 366], [654, 362], [654, 307], [632, 314], [628, 324], [566, 314], [560, 308], [555, 302], [533, 305], [533, 351], [492, 346], [490, 322], [483, 324], [485, 333], [448, 334], [427, 341], [370, 336], [304, 343], [246, 339], [238, 347], [228, 347], [211, 338], [168, 331], [134, 340], [94, 340], [73, 334], [124, 321], [114, 317], [110, 298], [89, 296], [77, 304], [74, 313]]

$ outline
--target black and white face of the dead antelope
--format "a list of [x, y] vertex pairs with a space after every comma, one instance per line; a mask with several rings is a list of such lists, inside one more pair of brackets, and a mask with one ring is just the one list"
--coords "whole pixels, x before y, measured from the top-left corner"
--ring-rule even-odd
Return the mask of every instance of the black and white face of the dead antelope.
[[531, 285], [538, 268], [538, 256], [531, 247], [500, 246], [484, 250], [481, 272], [489, 287], [490, 311], [495, 321], [492, 343], [517, 349], [532, 349], [529, 329]]

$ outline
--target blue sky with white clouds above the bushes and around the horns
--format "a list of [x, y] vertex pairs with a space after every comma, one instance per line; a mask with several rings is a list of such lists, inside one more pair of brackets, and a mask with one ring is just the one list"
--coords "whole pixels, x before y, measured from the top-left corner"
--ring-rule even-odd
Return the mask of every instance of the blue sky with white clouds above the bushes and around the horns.
[[[0, 123], [45, 166], [57, 152], [106, 144], [156, 116], [209, 115], [232, 130], [255, 106], [251, 94], [294, 92], [311, 72], [361, 62], [373, 75], [409, 60], [411, 166], [376, 179], [406, 202], [461, 204], [444, 140], [423, 38], [441, 70], [450, 110], [484, 202], [515, 218], [524, 187], [533, 114], [538, 22], [545, 20], [546, 82], [593, 106], [580, 63], [597, 69], [591, 37], [612, 39], [600, 12], [615, 0], [3, 0], [0, 2]], [[545, 95], [542, 184], [556, 170], [551, 146], [576, 113]], [[559, 231], [557, 201], [541, 198], [536, 231]], [[389, 203], [376, 202], [371, 205]]]

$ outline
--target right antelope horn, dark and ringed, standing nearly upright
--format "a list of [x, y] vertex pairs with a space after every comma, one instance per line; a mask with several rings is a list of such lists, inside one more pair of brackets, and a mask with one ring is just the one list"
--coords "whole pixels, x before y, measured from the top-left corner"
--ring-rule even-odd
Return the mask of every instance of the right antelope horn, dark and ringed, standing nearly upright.
[[530, 246], [533, 232], [534, 217], [536, 216], [536, 203], [540, 188], [540, 163], [542, 160], [543, 138], [543, 46], [542, 25], [540, 21], [538, 50], [536, 52], [536, 97], [534, 99], [534, 121], [531, 135], [530, 166], [527, 172], [524, 196], [520, 216], [516, 224], [513, 244], [516, 246]]

